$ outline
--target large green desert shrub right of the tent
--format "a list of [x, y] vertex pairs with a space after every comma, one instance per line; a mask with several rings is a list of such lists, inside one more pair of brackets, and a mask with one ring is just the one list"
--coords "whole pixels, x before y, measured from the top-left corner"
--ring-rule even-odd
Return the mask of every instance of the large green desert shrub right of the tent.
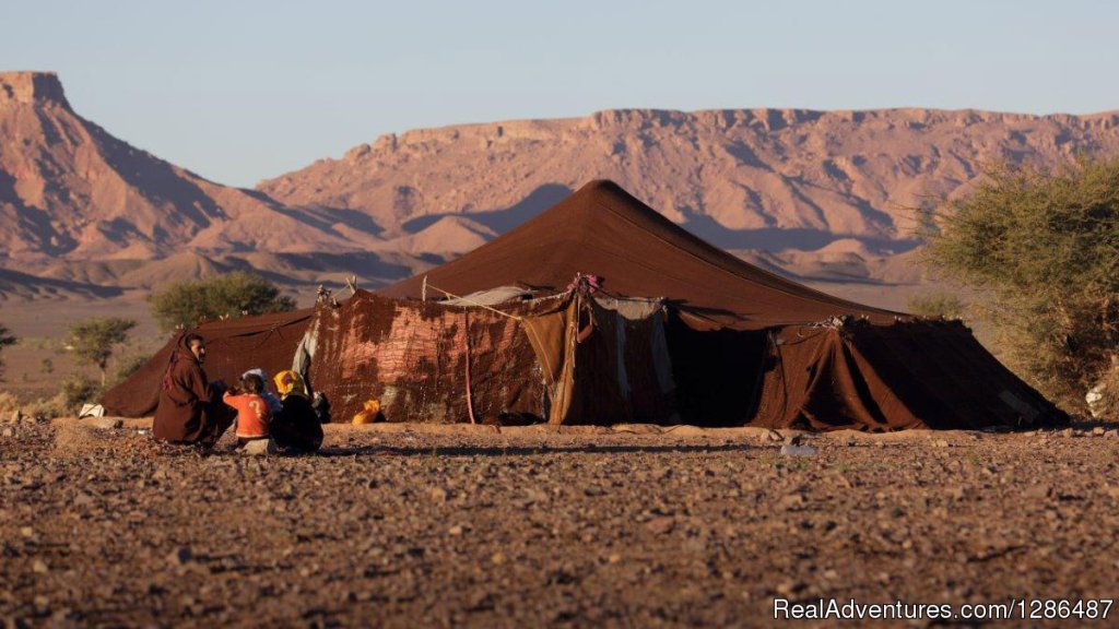
[[925, 217], [927, 259], [989, 295], [1008, 365], [1070, 410], [1119, 358], [1119, 160], [997, 166]]

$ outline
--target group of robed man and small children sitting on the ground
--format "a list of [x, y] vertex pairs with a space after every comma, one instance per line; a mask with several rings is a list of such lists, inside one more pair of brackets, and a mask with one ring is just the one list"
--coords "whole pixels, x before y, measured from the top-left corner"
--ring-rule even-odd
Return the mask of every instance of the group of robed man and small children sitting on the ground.
[[271, 439], [280, 450], [300, 453], [313, 452], [322, 444], [322, 420], [302, 376], [280, 372], [274, 394], [267, 389], [263, 369], [245, 372], [241, 382], [229, 387], [220, 381], [209, 382], [205, 362], [206, 340], [196, 334], [184, 336], [159, 393], [152, 426], [157, 440], [213, 447], [235, 425], [237, 448]]

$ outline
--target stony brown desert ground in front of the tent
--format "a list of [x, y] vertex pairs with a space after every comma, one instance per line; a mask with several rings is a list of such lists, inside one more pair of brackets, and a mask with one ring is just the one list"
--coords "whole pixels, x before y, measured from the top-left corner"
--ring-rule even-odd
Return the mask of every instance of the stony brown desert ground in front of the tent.
[[810, 457], [761, 430], [328, 426], [318, 456], [253, 457], [106, 425], [0, 424], [0, 626], [765, 626], [774, 598], [1119, 594], [1110, 426]]

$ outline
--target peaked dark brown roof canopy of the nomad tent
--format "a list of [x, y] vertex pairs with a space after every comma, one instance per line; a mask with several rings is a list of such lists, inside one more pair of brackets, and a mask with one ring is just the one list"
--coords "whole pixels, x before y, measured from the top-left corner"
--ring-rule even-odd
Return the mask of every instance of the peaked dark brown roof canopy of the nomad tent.
[[[576, 273], [612, 293], [667, 298], [725, 326], [763, 329], [836, 314], [877, 323], [897, 312], [862, 306], [775, 275], [715, 247], [612, 181], [592, 181], [532, 220], [380, 294], [423, 295], [424, 283], [467, 294], [523, 284], [562, 290]], [[441, 297], [441, 295], [440, 295]]]

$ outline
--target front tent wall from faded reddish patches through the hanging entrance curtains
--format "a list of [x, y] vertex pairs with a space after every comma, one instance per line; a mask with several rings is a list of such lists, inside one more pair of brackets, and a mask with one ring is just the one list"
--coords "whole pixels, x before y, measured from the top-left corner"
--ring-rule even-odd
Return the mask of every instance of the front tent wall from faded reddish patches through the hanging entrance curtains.
[[377, 401], [389, 422], [463, 423], [472, 411], [489, 424], [679, 423], [659, 302], [558, 294], [498, 308], [366, 292], [320, 307], [308, 383], [336, 422]]

